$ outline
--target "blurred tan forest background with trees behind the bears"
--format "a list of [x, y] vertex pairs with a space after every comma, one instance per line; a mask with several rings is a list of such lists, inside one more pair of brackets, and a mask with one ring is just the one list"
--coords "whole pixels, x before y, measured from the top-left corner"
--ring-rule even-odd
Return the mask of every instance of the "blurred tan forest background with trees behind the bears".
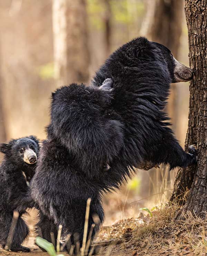
[[[30, 134], [44, 139], [51, 92], [72, 82], [89, 83], [108, 55], [133, 37], [165, 44], [188, 65], [183, 13], [182, 0], [1, 0], [0, 142], [3, 129], [7, 140]], [[188, 84], [176, 84], [170, 99], [168, 112], [184, 145]], [[150, 172], [138, 171], [127, 186], [105, 197], [108, 222], [169, 198], [176, 170], [170, 176], [165, 168]], [[148, 198], [151, 194], [157, 195]], [[129, 204], [142, 198], [147, 199]]]

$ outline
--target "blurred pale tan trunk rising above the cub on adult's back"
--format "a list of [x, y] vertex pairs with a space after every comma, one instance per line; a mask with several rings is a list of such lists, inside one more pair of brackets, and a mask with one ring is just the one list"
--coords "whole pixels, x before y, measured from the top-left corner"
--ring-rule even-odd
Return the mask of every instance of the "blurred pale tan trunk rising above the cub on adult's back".
[[53, 0], [55, 77], [59, 85], [89, 79], [85, 0]]

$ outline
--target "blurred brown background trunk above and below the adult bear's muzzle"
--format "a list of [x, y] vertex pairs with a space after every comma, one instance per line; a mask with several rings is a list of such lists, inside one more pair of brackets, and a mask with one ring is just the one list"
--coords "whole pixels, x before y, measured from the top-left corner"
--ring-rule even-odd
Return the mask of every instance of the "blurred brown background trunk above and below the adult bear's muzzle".
[[[183, 0], [148, 0], [147, 15], [141, 28], [141, 34], [148, 39], [167, 46], [175, 58], [179, 54], [182, 32]], [[171, 85], [168, 101], [168, 114], [176, 124], [176, 85]]]

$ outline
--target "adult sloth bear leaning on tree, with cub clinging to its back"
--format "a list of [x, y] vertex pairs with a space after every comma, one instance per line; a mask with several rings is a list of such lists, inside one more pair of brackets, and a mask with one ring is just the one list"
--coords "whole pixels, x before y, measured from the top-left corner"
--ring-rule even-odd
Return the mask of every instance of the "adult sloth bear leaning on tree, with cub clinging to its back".
[[[79, 233], [82, 242], [87, 199], [90, 228], [94, 213], [103, 221], [103, 192], [118, 188], [133, 167], [196, 162], [195, 147], [184, 152], [162, 112], [170, 83], [191, 77], [165, 46], [137, 38], [108, 58], [91, 86], [71, 84], [53, 93], [48, 140], [31, 183], [43, 238], [50, 241], [50, 231], [57, 237], [62, 224], [63, 237]], [[110, 82], [103, 88], [107, 78], [112, 90]]]

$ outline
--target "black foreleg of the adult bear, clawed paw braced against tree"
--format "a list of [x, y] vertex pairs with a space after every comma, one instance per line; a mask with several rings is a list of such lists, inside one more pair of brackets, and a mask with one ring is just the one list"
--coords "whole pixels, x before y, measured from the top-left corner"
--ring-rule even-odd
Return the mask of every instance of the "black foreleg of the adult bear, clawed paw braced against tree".
[[177, 166], [184, 168], [197, 162], [197, 149], [195, 145], [190, 145], [186, 153], [169, 129], [163, 134], [162, 140], [157, 142], [157, 151], [152, 159], [154, 163], [169, 164], [170, 169]]

